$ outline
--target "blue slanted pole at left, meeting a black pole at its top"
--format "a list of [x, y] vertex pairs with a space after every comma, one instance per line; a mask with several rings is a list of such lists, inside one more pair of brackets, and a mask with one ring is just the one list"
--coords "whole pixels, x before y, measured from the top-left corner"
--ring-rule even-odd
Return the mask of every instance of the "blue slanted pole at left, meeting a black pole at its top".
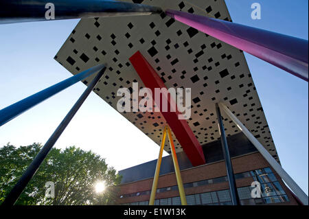
[[20, 100], [19, 102], [16, 102], [10, 106], [7, 106], [0, 110], [0, 126], [3, 126], [5, 123], [9, 122], [10, 120], [14, 119], [18, 115], [21, 115], [21, 113], [24, 113], [28, 109], [32, 108], [33, 106], [36, 106], [36, 104], [39, 104], [43, 102], [44, 100], [47, 100], [49, 97], [52, 97], [56, 93], [59, 93], [60, 91], [63, 91], [64, 89], [67, 89], [73, 84], [76, 84], [80, 80], [84, 80], [88, 76], [91, 76], [93, 73], [100, 71], [104, 65], [96, 65], [95, 67], [91, 67], [90, 69], [87, 69], [86, 71], [82, 71], [81, 73], [78, 73], [75, 76], [71, 76], [71, 78], [67, 78], [66, 80], [63, 80], [62, 82], [59, 82], [58, 84], [54, 84], [51, 87], [48, 87], [47, 89], [44, 89], [43, 91], [39, 91], [38, 93], [35, 93], [34, 95], [31, 95], [29, 97], [26, 97], [23, 100]]

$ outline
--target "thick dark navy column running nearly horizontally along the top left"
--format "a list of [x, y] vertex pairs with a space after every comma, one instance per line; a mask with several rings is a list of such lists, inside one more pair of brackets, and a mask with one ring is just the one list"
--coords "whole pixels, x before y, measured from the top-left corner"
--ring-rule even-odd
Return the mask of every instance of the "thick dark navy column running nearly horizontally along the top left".
[[161, 12], [150, 5], [111, 0], [1, 0], [0, 24]]

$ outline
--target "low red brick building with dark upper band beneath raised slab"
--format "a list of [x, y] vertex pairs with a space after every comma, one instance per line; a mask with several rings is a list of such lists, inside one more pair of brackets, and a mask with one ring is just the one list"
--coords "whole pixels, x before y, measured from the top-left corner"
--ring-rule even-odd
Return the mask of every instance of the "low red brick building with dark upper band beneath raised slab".
[[[297, 199], [254, 146], [242, 134], [228, 137], [241, 205], [298, 205]], [[238, 148], [236, 148], [238, 147]], [[241, 147], [241, 149], [240, 149]], [[205, 165], [192, 167], [178, 154], [188, 205], [231, 205], [227, 171], [220, 142], [203, 146]], [[117, 204], [148, 205], [157, 160], [122, 170]], [[179, 190], [170, 156], [162, 161], [155, 205], [180, 205]], [[148, 177], [150, 176], [150, 177]], [[261, 198], [251, 197], [251, 183], [261, 183]]]

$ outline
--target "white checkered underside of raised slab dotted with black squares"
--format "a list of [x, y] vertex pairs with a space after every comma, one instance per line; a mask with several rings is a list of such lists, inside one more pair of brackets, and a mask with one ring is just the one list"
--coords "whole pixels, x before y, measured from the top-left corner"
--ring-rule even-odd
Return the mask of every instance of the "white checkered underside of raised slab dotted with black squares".
[[[231, 21], [224, 0], [127, 1]], [[243, 52], [174, 21], [164, 13], [81, 19], [55, 59], [73, 74], [94, 65], [106, 64], [106, 73], [94, 92], [117, 110], [120, 98], [117, 97], [117, 89], [127, 87], [132, 92], [133, 82], [144, 87], [128, 60], [138, 50], [154, 67], [166, 87], [192, 89], [192, 116], [187, 123], [201, 145], [220, 137], [215, 104], [222, 101], [279, 161]], [[122, 115], [160, 145], [165, 126], [161, 113]], [[222, 116], [227, 135], [240, 132], [224, 113]], [[182, 151], [177, 139], [174, 143], [176, 152]], [[164, 149], [170, 153], [168, 141]]]

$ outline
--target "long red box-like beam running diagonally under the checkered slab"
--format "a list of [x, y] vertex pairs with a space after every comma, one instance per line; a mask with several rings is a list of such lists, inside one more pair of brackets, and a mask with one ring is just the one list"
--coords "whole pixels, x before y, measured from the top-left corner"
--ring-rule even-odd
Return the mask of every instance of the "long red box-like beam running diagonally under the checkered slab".
[[[144, 82], [145, 87], [151, 89], [152, 91], [152, 100], [155, 100], [155, 88], [166, 88], [165, 84], [158, 76], [155, 69], [148, 63], [144, 56], [137, 51], [133, 56], [130, 57], [130, 62], [132, 63], [135, 71]], [[167, 89], [167, 88], [166, 88]], [[173, 106], [174, 100], [170, 95], [161, 95], [161, 102], [165, 102], [168, 99], [168, 106]], [[161, 103], [157, 103], [157, 106], [161, 106]], [[176, 139], [178, 139], [181, 147], [185, 154], [187, 154], [188, 159], [191, 161], [192, 165], [203, 165], [205, 164], [205, 157], [201, 147], [201, 144], [196, 139], [192, 129], [187, 124], [185, 119], [179, 119], [181, 113], [176, 109], [176, 112], [171, 111], [161, 111], [166, 122], [174, 132]]]

